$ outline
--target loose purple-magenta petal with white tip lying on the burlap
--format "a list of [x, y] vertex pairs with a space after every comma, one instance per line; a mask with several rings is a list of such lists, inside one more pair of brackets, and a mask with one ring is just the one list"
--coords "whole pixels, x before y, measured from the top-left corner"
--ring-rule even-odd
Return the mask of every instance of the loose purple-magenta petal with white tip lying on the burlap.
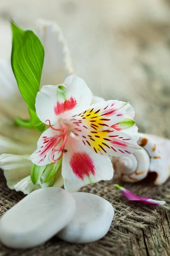
[[165, 201], [159, 201], [159, 200], [153, 200], [151, 198], [135, 195], [132, 192], [130, 192], [128, 189], [123, 188], [122, 186], [119, 186], [118, 184], [114, 185], [117, 189], [121, 190], [122, 195], [129, 200], [129, 201], [139, 201], [143, 204], [152, 204], [152, 205], [163, 205], [166, 204]]

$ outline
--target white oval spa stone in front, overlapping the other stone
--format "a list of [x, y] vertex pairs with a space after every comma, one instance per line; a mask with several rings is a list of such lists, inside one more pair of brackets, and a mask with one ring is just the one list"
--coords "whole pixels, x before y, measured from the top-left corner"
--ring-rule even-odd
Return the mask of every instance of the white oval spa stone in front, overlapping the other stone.
[[9, 209], [0, 220], [0, 241], [11, 248], [44, 243], [74, 216], [76, 204], [64, 189], [38, 189]]

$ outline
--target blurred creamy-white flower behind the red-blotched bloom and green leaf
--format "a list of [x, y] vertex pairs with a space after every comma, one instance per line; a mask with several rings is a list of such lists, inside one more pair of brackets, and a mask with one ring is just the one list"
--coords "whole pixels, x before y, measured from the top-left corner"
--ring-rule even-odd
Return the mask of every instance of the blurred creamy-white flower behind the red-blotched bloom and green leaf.
[[[37, 20], [35, 33], [45, 49], [41, 86], [59, 84], [74, 73], [69, 50], [62, 31], [56, 23]], [[40, 132], [14, 125], [14, 117], [28, 119], [28, 106], [17, 86], [9, 59], [0, 59], [0, 168], [10, 189], [30, 193], [40, 185], [30, 179], [32, 163], [28, 157], [37, 147]], [[53, 186], [62, 186], [61, 171]]]

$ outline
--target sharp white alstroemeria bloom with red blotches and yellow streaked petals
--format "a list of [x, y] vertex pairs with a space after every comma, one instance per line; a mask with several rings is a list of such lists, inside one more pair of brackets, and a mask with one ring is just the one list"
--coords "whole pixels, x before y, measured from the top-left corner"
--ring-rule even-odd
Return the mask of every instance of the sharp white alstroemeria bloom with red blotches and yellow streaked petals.
[[[91, 100], [91, 90], [77, 76], [68, 76], [57, 86], [43, 86], [36, 97], [37, 116], [50, 128], [42, 133], [29, 159], [44, 166], [63, 157], [62, 177], [69, 191], [110, 180], [113, 167], [108, 155], [132, 154], [139, 148], [131, 105], [117, 100], [91, 105]], [[121, 122], [127, 126], [132, 122], [127, 132]], [[119, 131], [112, 128], [116, 124]]]

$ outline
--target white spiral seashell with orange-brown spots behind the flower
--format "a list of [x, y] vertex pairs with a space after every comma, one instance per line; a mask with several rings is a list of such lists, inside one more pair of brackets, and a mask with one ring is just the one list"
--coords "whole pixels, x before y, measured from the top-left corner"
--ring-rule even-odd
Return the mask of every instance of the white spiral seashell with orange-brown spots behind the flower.
[[143, 180], [148, 172], [157, 174], [155, 185], [163, 184], [170, 176], [170, 140], [150, 134], [139, 134], [142, 150], [125, 157], [113, 157], [117, 175], [127, 182]]

